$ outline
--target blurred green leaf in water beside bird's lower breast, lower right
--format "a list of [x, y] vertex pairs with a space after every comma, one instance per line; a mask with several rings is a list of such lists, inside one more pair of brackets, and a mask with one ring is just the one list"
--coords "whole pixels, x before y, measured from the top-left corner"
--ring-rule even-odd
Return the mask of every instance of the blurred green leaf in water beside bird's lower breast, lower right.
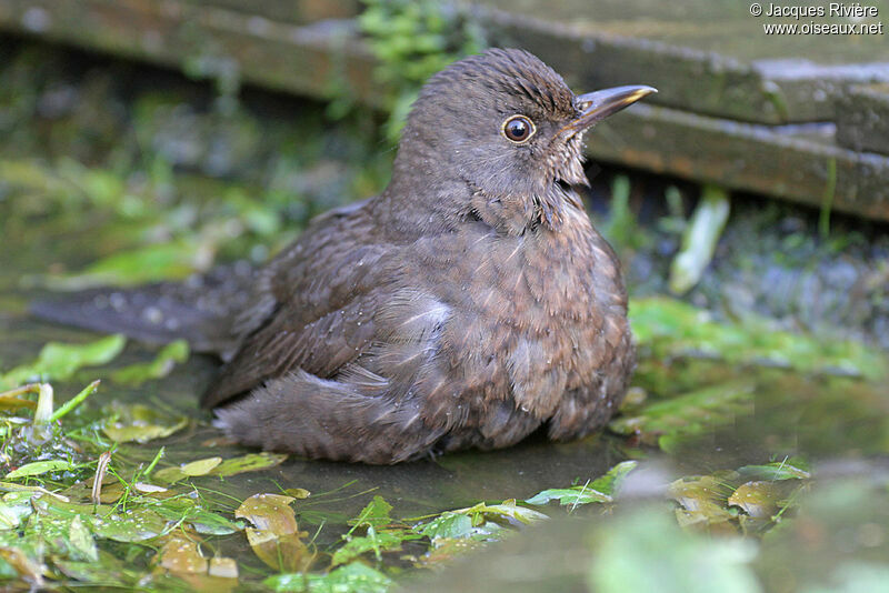
[[613, 420], [608, 428], [671, 451], [683, 440], [730, 424], [738, 415], [750, 415], [752, 404], [753, 383], [733, 381], [649, 403], [632, 415]]

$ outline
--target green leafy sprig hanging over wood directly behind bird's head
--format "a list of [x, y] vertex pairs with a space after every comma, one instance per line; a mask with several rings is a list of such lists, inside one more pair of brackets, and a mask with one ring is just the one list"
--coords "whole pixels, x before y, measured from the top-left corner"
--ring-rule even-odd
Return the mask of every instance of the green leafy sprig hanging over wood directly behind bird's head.
[[478, 53], [485, 31], [466, 8], [434, 0], [363, 0], [359, 17], [378, 60], [374, 77], [387, 89], [386, 135], [398, 142], [426, 80], [455, 60]]

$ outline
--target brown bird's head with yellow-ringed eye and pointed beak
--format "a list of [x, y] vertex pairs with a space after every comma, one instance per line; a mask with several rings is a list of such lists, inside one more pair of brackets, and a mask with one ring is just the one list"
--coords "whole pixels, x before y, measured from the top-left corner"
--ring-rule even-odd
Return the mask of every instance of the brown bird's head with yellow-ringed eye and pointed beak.
[[[576, 96], [526, 51], [470, 56], [420, 91], [394, 174], [505, 232], [558, 229], [565, 208], [580, 208], [571, 187], [588, 183], [583, 132], [652, 92], [638, 86]], [[451, 195], [460, 203], [449, 203]]]

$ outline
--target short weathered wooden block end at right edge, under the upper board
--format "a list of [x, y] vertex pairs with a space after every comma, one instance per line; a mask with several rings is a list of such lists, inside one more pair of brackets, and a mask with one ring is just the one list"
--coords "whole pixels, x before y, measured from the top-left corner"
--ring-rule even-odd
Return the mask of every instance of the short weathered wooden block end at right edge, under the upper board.
[[889, 84], [850, 89], [838, 105], [837, 142], [889, 154]]

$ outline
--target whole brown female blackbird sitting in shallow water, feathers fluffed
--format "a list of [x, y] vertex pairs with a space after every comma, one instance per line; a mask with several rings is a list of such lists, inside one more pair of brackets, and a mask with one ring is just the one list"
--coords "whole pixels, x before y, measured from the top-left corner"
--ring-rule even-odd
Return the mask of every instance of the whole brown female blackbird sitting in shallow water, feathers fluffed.
[[202, 404], [248, 445], [382, 464], [583, 436], [635, 350], [619, 262], [577, 191], [582, 135], [652, 92], [575, 96], [526, 51], [468, 57], [422, 88], [386, 190], [261, 270], [36, 310], [219, 353]]

